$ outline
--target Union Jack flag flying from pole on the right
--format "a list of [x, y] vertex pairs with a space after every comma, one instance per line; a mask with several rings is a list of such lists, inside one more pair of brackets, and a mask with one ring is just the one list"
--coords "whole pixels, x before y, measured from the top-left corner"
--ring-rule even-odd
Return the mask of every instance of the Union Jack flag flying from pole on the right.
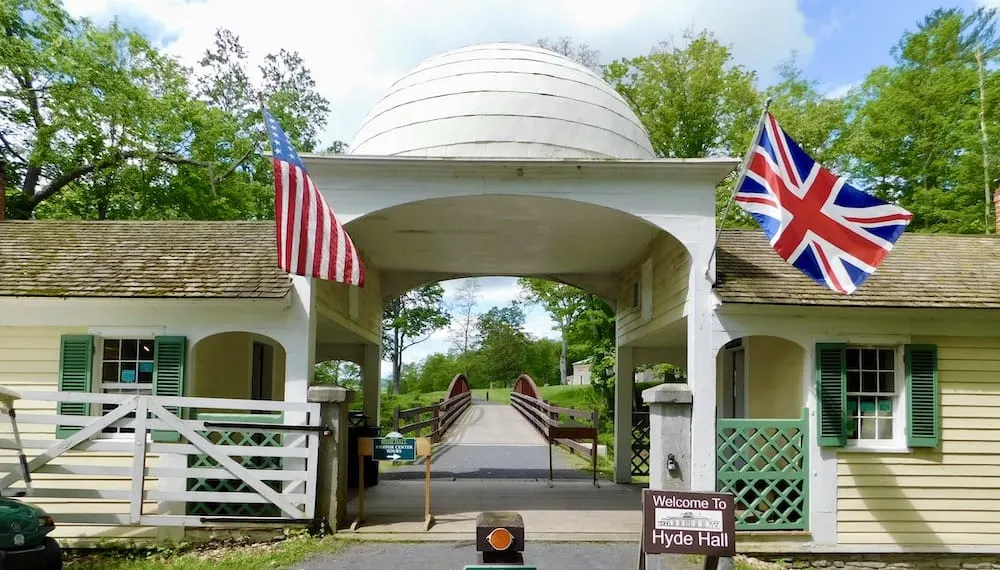
[[848, 184], [762, 118], [735, 200], [785, 261], [817, 283], [850, 294], [892, 250], [913, 219]]

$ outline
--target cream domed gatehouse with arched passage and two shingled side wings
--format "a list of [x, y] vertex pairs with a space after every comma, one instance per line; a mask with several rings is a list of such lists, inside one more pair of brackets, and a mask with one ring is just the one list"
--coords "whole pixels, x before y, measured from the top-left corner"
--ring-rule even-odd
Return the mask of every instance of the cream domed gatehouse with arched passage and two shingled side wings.
[[653, 431], [650, 485], [734, 493], [740, 550], [1000, 555], [996, 236], [905, 235], [850, 296], [759, 231], [723, 231], [710, 265], [737, 161], [656, 158], [610, 86], [529, 46], [427, 60], [351, 148], [304, 160], [364, 289], [281, 273], [270, 222], [0, 223], [0, 384], [26, 393], [63, 538], [314, 517], [314, 362], [360, 363], [377, 418], [386, 300], [524, 275], [616, 307], [617, 450], [634, 368], [685, 370], [690, 441]]

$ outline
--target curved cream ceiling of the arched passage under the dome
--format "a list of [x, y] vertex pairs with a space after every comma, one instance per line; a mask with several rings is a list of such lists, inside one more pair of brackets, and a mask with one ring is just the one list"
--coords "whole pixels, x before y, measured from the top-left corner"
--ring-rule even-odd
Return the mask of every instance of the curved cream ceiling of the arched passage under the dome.
[[457, 275], [616, 273], [660, 231], [610, 208], [515, 195], [403, 204], [347, 230], [383, 271]]

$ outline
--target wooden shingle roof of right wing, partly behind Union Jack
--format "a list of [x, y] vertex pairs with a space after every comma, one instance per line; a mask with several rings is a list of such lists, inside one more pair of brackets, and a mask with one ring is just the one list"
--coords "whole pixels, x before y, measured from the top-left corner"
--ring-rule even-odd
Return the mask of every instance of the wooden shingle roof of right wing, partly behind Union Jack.
[[726, 303], [1000, 308], [1000, 236], [906, 233], [875, 273], [841, 295], [781, 259], [760, 230], [723, 230], [715, 293]]

